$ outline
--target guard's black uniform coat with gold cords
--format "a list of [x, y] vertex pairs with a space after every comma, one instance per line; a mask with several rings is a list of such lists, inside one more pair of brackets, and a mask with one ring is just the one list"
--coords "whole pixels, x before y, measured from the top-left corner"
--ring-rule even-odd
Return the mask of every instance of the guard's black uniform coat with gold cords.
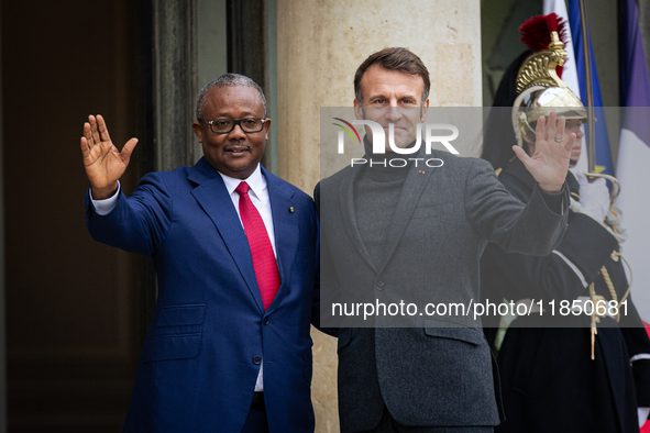
[[[499, 180], [521, 201], [530, 200], [535, 180], [518, 159]], [[576, 199], [579, 184], [571, 173], [566, 181]], [[650, 406], [650, 342], [631, 298], [620, 322], [602, 318], [594, 360], [590, 317], [562, 315], [559, 310], [562, 300], [587, 296], [591, 282], [597, 295], [612, 300], [603, 266], [620, 300], [628, 281], [621, 260], [613, 258], [619, 249], [599, 223], [573, 211], [562, 242], [548, 256], [508, 254], [495, 244], [486, 247], [481, 263], [484, 302], [528, 298], [541, 299], [544, 306], [542, 315], [517, 318], [500, 346], [506, 422], [498, 432], [639, 431], [637, 404]], [[498, 326], [496, 319], [484, 318], [484, 324]], [[486, 334], [494, 342], [495, 329], [486, 329]]]

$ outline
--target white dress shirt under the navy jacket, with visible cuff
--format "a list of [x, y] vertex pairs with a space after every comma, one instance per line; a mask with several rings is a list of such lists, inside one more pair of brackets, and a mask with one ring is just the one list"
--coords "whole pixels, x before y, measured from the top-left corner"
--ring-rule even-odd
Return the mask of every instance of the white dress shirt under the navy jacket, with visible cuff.
[[[219, 171], [218, 171], [219, 173]], [[242, 218], [240, 215], [240, 195], [236, 193], [234, 190], [235, 188], [242, 182], [242, 179], [235, 179], [229, 176], [219, 173], [221, 178], [223, 179], [223, 184], [225, 184], [225, 189], [230, 195], [230, 199], [232, 200], [232, 204], [234, 206], [234, 210], [236, 211], [238, 216], [240, 216], [240, 223], [242, 224]], [[249, 184], [249, 197], [251, 201], [260, 212], [262, 216], [262, 221], [264, 221], [264, 226], [266, 227], [266, 233], [268, 234], [268, 238], [271, 240], [271, 246], [273, 247], [273, 254], [277, 260], [277, 253], [275, 249], [275, 233], [273, 231], [273, 214], [271, 212], [271, 199], [268, 198], [268, 186], [266, 184], [266, 179], [262, 176], [262, 170], [260, 169], [260, 164], [257, 164], [257, 168], [251, 176], [246, 179], [243, 179], [246, 184]], [[120, 197], [121, 186], [118, 181], [118, 191], [110, 198], [106, 200], [95, 200], [92, 198], [92, 190], [90, 191], [90, 200], [92, 200], [92, 206], [95, 207], [95, 211], [99, 215], [107, 215], [109, 214], [118, 204], [118, 198]], [[264, 390], [264, 382], [263, 382], [263, 368], [262, 366], [264, 363], [260, 364], [260, 373], [257, 374], [257, 381], [255, 382], [255, 391], [263, 391]]]

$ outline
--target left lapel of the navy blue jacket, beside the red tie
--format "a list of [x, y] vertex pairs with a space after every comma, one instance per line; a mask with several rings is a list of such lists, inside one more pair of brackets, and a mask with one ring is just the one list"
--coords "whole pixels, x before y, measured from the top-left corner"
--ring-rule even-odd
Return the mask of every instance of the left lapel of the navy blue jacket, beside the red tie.
[[251, 296], [255, 299], [257, 309], [262, 313], [264, 307], [260, 295], [260, 288], [257, 287], [257, 280], [255, 279], [255, 269], [253, 268], [249, 240], [246, 238], [246, 234], [242, 227], [236, 211], [232, 206], [232, 200], [223, 184], [223, 179], [205, 158], [201, 158], [190, 169], [188, 180], [197, 184], [197, 187], [192, 189], [191, 193], [217, 226], [225, 247], [230, 252], [243, 280], [249, 287]]

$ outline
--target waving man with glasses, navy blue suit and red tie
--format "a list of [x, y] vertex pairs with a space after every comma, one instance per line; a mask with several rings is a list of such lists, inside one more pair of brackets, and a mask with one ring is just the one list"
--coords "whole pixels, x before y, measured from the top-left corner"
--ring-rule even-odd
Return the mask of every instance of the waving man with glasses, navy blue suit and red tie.
[[137, 140], [119, 152], [100, 115], [84, 124], [88, 230], [152, 257], [158, 277], [126, 432], [313, 431], [318, 220], [309, 196], [261, 167], [269, 126], [262, 89], [221, 76], [197, 102], [203, 157], [126, 198], [118, 180]]

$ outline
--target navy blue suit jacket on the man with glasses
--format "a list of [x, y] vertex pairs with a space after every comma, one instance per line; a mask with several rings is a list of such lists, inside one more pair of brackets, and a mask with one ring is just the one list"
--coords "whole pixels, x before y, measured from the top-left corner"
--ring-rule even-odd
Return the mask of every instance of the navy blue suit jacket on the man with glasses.
[[124, 431], [239, 432], [261, 363], [271, 432], [313, 431], [318, 219], [309, 196], [262, 173], [282, 278], [266, 311], [242, 224], [205, 158], [144, 176], [108, 215], [87, 197], [92, 237], [151, 256], [158, 278]]

